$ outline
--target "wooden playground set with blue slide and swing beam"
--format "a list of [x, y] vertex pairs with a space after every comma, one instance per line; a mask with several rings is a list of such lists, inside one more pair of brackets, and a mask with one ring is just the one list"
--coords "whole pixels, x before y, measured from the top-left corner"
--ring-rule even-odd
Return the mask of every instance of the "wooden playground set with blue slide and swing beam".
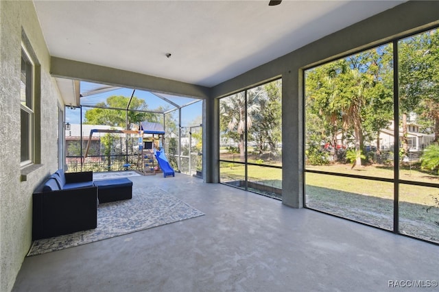
[[[88, 156], [93, 134], [134, 134], [139, 136], [139, 153], [137, 156], [137, 171], [143, 175], [155, 175], [163, 173], [163, 177], [175, 176], [175, 171], [165, 156], [165, 130], [160, 123], [142, 121], [133, 130], [104, 130], [93, 129], [88, 137], [84, 158]], [[123, 165], [125, 170], [131, 169], [132, 165], [126, 161]]]

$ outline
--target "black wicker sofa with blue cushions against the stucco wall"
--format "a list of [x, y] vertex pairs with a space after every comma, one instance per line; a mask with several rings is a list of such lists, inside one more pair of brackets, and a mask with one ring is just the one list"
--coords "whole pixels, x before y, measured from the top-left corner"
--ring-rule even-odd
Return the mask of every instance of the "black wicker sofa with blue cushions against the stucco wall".
[[89, 230], [97, 226], [97, 186], [93, 172], [56, 171], [33, 194], [32, 239]]

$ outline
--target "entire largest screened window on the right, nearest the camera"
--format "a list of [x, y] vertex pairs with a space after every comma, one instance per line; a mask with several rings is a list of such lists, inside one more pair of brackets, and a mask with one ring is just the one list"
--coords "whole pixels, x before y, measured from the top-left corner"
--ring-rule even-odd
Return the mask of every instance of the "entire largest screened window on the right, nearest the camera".
[[308, 208], [439, 243], [438, 68], [434, 29], [305, 71]]

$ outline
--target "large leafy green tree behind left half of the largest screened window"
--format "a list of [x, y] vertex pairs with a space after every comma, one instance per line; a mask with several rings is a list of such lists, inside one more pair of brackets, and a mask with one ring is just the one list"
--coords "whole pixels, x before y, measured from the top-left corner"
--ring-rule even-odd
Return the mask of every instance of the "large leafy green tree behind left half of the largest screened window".
[[[391, 87], [384, 82], [382, 47], [316, 67], [307, 72], [307, 117], [322, 121], [321, 138], [336, 145], [337, 135], [352, 133], [355, 143], [355, 165], [361, 165], [361, 151], [368, 131], [379, 130], [391, 117]], [[383, 102], [385, 101], [385, 102]], [[385, 107], [383, 107], [385, 105]], [[381, 112], [375, 110], [381, 109]], [[308, 115], [308, 113], [307, 113]], [[312, 125], [311, 125], [312, 127]], [[308, 131], [307, 131], [307, 134]], [[322, 141], [317, 141], [322, 143]]]

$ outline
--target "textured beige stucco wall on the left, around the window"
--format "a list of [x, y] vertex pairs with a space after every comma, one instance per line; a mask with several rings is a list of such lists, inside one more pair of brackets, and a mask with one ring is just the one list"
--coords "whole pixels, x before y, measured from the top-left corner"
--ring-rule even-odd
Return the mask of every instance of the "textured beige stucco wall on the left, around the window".
[[[35, 131], [39, 163], [24, 170], [20, 167], [22, 32], [40, 64], [40, 106], [36, 106], [35, 116], [41, 121]], [[34, 4], [0, 1], [0, 291], [12, 289], [32, 242], [32, 192], [58, 165], [56, 131], [60, 94], [49, 75], [49, 62]], [[23, 182], [22, 173], [27, 173]]]

